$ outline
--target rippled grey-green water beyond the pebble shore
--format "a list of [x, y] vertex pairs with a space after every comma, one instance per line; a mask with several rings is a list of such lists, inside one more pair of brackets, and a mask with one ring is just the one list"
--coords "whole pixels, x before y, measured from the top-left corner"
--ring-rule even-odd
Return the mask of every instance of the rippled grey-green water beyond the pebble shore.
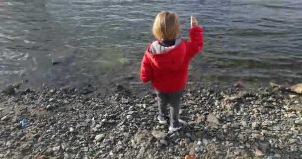
[[301, 81], [302, 0], [0, 0], [0, 87], [136, 77], [160, 10], [205, 28], [190, 80]]

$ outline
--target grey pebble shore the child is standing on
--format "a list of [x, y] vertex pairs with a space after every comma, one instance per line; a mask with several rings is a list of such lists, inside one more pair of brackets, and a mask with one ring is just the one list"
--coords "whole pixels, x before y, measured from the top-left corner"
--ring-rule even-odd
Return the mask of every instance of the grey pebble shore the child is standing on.
[[[302, 157], [301, 97], [272, 89], [192, 85], [195, 89], [188, 86], [183, 93], [183, 127], [175, 134], [158, 124], [148, 85], [1, 94], [0, 159]], [[141, 89], [147, 91], [136, 94]], [[22, 119], [30, 122], [25, 128], [19, 127]]]

